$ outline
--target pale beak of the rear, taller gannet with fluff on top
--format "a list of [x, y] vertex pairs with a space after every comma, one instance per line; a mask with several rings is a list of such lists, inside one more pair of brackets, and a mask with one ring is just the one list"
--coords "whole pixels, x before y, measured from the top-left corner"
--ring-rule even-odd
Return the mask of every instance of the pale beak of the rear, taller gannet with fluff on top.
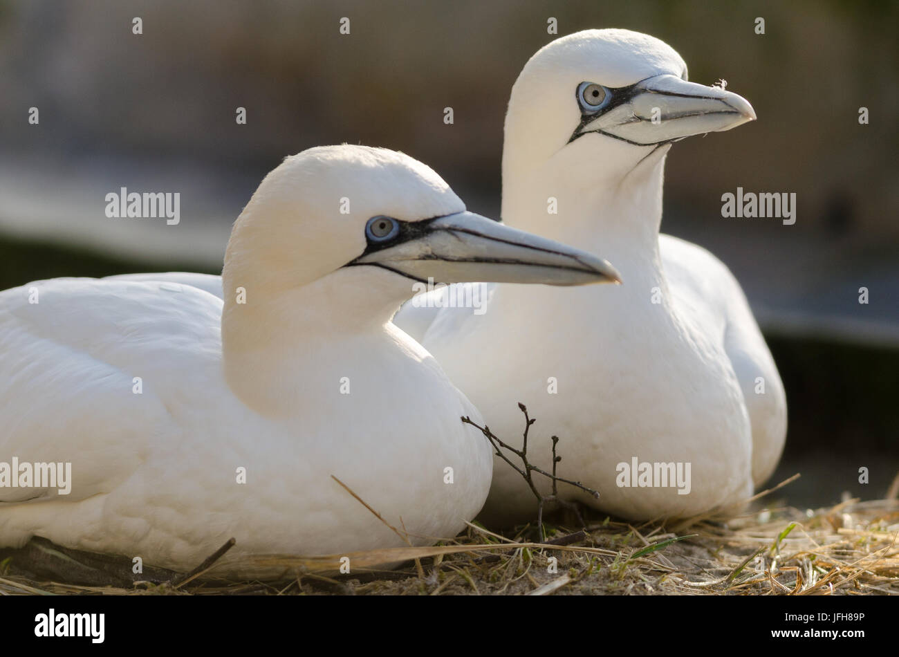
[[625, 102], [591, 118], [584, 116], [572, 139], [601, 132], [632, 144], [663, 144], [736, 128], [755, 120], [752, 105], [717, 86], [656, 75], [622, 90]]

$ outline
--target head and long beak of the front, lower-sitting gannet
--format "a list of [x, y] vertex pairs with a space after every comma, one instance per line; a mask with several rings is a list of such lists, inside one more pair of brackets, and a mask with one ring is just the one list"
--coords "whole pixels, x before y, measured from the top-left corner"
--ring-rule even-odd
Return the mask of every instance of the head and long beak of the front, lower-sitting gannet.
[[[432, 169], [369, 146], [319, 146], [269, 173], [237, 219], [223, 272], [266, 297], [341, 272], [397, 306], [413, 281], [618, 281], [601, 258], [467, 212]], [[257, 292], [258, 295], [258, 292]]]

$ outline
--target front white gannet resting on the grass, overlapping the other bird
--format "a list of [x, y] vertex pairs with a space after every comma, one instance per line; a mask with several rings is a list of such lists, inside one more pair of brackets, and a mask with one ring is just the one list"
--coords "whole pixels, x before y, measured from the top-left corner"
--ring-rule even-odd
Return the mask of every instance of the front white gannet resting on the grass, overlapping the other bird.
[[[460, 421], [476, 408], [390, 321], [428, 277], [616, 273], [467, 212], [407, 155], [328, 146], [255, 191], [227, 246], [224, 303], [173, 280], [0, 293], [0, 546], [40, 536], [183, 569], [228, 537], [242, 553], [403, 545], [331, 475], [415, 544], [455, 535], [493, 464]], [[71, 464], [70, 491], [22, 479], [13, 460]]]

